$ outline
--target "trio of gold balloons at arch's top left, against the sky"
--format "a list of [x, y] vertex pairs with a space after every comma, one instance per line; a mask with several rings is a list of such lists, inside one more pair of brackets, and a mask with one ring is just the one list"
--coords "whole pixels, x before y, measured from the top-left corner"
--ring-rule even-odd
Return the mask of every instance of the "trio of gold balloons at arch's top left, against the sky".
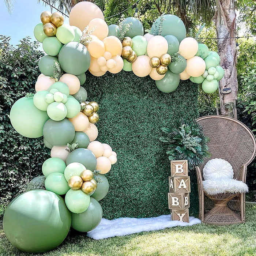
[[49, 11], [44, 11], [40, 15], [41, 22], [44, 24], [44, 33], [48, 37], [56, 35], [57, 27], [63, 25], [64, 17], [59, 12], [51, 14]]

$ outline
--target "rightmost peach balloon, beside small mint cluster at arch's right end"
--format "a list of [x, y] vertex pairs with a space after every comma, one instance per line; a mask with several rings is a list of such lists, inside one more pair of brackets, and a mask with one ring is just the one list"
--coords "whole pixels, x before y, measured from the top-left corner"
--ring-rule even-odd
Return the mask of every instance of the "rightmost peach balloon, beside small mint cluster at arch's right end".
[[185, 71], [188, 75], [197, 77], [204, 74], [206, 64], [204, 60], [199, 56], [194, 56], [187, 60], [187, 67]]

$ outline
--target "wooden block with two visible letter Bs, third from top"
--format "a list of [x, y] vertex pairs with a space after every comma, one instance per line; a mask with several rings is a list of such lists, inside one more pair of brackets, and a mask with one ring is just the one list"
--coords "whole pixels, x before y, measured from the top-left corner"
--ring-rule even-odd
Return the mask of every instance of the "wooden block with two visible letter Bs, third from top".
[[185, 210], [189, 208], [189, 193], [168, 193], [168, 205], [172, 210]]

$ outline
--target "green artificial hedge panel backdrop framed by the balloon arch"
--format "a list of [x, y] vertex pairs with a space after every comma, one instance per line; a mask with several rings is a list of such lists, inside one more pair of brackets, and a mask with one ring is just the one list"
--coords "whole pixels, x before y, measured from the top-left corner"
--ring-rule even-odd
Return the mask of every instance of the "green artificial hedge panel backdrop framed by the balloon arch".
[[[92, 76], [87, 72], [89, 99], [99, 103], [97, 140], [117, 152], [117, 163], [106, 174], [109, 193], [100, 203], [103, 217], [155, 217], [169, 214], [170, 161], [159, 141], [161, 127], [173, 118], [198, 116], [198, 86], [181, 81], [169, 94], [149, 77], [132, 72]], [[190, 214], [198, 213], [197, 181], [191, 176]]]

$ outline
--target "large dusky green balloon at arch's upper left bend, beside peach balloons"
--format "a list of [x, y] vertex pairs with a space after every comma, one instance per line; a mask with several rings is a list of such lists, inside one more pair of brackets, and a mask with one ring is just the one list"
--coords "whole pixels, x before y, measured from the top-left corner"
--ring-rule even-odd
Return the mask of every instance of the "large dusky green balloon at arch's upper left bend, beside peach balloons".
[[86, 46], [78, 42], [69, 42], [62, 46], [59, 52], [61, 68], [73, 75], [80, 75], [86, 72], [90, 66], [90, 53]]

